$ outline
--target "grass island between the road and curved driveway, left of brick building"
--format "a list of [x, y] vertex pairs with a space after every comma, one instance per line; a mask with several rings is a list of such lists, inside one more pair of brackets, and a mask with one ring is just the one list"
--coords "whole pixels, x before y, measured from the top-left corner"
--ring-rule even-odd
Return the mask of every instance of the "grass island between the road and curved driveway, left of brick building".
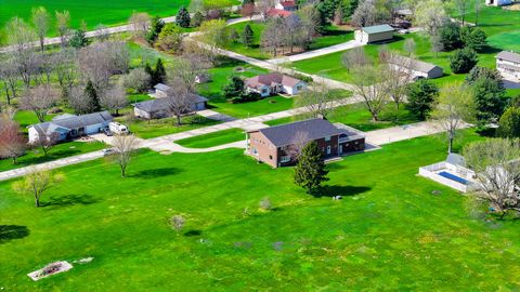
[[199, 136], [176, 141], [177, 144], [188, 148], [209, 148], [245, 140], [244, 130], [230, 129]]

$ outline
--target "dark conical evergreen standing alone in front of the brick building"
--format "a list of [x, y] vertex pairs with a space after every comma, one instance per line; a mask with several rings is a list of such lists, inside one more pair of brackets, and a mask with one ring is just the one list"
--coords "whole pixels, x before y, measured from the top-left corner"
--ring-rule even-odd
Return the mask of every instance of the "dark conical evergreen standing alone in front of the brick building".
[[307, 144], [295, 168], [295, 183], [312, 194], [323, 182], [328, 181], [323, 155], [316, 142]]

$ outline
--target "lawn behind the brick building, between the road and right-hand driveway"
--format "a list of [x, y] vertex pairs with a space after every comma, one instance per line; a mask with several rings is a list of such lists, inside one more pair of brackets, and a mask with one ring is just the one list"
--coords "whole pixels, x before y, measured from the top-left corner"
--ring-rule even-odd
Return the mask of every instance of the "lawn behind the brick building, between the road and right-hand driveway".
[[[307, 118], [306, 115], [302, 115], [266, 121], [264, 123], [269, 125], [277, 125]], [[388, 105], [388, 107], [381, 112], [379, 121], [377, 122], [372, 121], [372, 115], [366, 110], [363, 104], [338, 107], [327, 116], [327, 119], [330, 122], [340, 122], [363, 132], [418, 122], [417, 118], [411, 115], [404, 106], [401, 106], [401, 108], [396, 110], [393, 104]]]

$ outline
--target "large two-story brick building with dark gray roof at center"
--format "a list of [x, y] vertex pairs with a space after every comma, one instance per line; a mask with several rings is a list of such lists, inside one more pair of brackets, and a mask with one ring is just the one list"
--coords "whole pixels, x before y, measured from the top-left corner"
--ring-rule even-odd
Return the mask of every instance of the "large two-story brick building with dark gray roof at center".
[[365, 136], [343, 124], [310, 119], [247, 132], [246, 154], [273, 168], [296, 162], [294, 149], [315, 141], [324, 158], [365, 149]]

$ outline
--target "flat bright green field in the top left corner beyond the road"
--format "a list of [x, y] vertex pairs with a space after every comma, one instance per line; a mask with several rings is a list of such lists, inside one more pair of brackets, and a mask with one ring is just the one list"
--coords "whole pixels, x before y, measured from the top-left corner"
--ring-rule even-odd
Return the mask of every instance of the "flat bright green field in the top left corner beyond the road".
[[[227, 2], [227, 1], [225, 1]], [[30, 19], [30, 11], [36, 6], [44, 6], [52, 16], [54, 11], [68, 10], [70, 13], [70, 26], [78, 28], [81, 22], [87, 23], [87, 27], [94, 28], [99, 24], [108, 26], [120, 25], [128, 22], [128, 18], [135, 12], [146, 12], [151, 15], [171, 16], [177, 14], [181, 6], [187, 6], [190, 0], [161, 1], [161, 0], [114, 0], [114, 1], [37, 1], [37, 0], [2, 0], [0, 2], [0, 27], [10, 18], [20, 16], [26, 21]], [[53, 17], [51, 35], [55, 35], [55, 19]]]

